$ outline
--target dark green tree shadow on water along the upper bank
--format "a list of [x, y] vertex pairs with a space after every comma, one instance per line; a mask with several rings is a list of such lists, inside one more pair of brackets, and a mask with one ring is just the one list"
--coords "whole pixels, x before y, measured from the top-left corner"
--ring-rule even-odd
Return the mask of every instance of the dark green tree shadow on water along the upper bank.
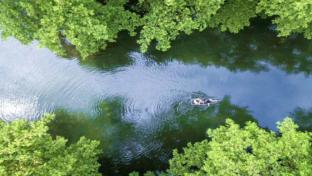
[[[290, 37], [276, 37], [275, 26], [270, 20], [254, 18], [250, 27], [237, 34], [220, 32], [219, 28], [208, 28], [191, 35], [181, 34], [172, 41], [166, 52], [149, 47], [146, 56], [158, 62], [180, 60], [184, 63], [200, 63], [203, 67], [214, 65], [231, 72], [269, 71], [270, 66], [287, 74], [312, 72], [312, 42], [294, 33]], [[105, 50], [96, 53], [81, 65], [99, 69], [111, 69], [130, 65], [133, 61], [124, 53], [138, 52], [137, 37], [120, 33], [117, 43], [110, 43]], [[153, 44], [152, 44], [153, 45]]]

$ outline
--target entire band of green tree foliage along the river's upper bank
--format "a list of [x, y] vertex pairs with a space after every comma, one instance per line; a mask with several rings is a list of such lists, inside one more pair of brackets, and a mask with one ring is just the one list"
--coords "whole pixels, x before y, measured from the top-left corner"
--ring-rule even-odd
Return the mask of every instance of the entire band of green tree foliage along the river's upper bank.
[[130, 36], [139, 33], [141, 52], [153, 41], [156, 49], [166, 51], [181, 33], [217, 26], [237, 33], [257, 16], [270, 17], [278, 36], [303, 33], [312, 38], [312, 3], [304, 0], [4, 0], [0, 8], [2, 38], [12, 36], [23, 44], [35, 39], [60, 55], [70, 43], [82, 58], [115, 42], [121, 30]]

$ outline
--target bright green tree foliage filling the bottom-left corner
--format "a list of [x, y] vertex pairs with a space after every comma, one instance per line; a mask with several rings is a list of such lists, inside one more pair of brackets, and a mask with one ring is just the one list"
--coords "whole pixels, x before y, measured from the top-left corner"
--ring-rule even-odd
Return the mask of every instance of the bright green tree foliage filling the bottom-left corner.
[[38, 122], [0, 122], [0, 175], [100, 175], [99, 142], [81, 137], [67, 147], [65, 138], [46, 133], [52, 119], [46, 113]]

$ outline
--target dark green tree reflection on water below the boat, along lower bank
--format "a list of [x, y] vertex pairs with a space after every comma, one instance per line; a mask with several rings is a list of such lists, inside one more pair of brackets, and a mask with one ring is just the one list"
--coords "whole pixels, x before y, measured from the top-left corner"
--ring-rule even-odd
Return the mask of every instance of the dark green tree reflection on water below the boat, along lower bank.
[[207, 138], [207, 129], [224, 125], [226, 118], [232, 118], [241, 126], [246, 121], [257, 123], [248, 107], [232, 104], [230, 96], [210, 107], [174, 102], [169, 112], [151, 117], [151, 122], [146, 123], [143, 130], [138, 124], [121, 118], [124, 112], [119, 110], [124, 109], [122, 106], [119, 100], [99, 103], [94, 108], [99, 112], [96, 117], [58, 109], [49, 132], [69, 139], [68, 144], [75, 143], [80, 136], [100, 140], [103, 150], [99, 156], [100, 172], [126, 175], [134, 170], [167, 169], [174, 148], [181, 150], [188, 142]]

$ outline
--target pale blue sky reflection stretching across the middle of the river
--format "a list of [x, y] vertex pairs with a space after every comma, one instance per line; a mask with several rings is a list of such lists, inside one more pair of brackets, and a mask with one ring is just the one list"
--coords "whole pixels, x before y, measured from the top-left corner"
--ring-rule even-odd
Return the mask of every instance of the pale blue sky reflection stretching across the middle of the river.
[[[57, 58], [46, 49], [37, 50], [35, 45], [27, 48], [15, 44], [17, 47], [10, 49], [5, 47], [7, 43], [17, 42], [2, 42], [0, 50], [0, 112], [8, 120], [38, 118], [45, 111], [61, 107], [89, 111], [99, 101], [121, 98], [126, 111], [123, 120], [148, 123], [151, 115], [167, 112], [172, 103], [202, 92], [219, 99], [231, 95], [232, 103], [249, 106], [261, 126], [275, 129], [275, 122], [289, 110], [309, 108], [312, 103], [311, 78], [285, 75], [271, 65], [267, 65], [269, 72], [232, 73], [222, 67], [202, 67], [175, 59], [158, 63], [131, 52], [128, 57], [133, 64], [104, 71], [82, 67], [76, 59]], [[20, 52], [24, 50], [28, 51]]]

